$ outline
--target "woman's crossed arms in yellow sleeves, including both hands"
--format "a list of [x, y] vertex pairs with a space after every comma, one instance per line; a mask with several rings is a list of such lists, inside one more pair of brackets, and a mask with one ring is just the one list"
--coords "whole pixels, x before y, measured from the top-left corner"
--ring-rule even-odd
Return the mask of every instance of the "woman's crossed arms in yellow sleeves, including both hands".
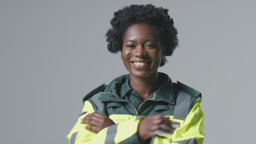
[[[154, 131], [161, 129], [161, 124], [172, 125], [167, 117], [161, 115], [134, 118], [115, 124], [107, 116], [95, 113], [89, 101], [85, 101], [82, 112], [86, 112], [85, 115], [79, 117], [78, 122], [67, 135], [69, 143], [143, 143], [144, 140], [156, 136]], [[190, 141], [200, 144], [203, 138], [203, 112], [200, 99], [196, 101], [182, 127], [174, 131], [173, 141], [176, 142], [173, 143]], [[164, 137], [157, 137], [155, 142], [158, 141], [171, 143]]]

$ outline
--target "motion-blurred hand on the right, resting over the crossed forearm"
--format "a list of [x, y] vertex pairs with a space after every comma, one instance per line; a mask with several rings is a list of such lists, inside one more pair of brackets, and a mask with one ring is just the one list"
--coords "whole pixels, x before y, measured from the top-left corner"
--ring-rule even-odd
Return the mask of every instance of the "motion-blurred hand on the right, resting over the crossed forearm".
[[153, 136], [157, 136], [154, 133], [155, 130], [162, 130], [171, 133], [172, 131], [170, 130], [160, 128], [160, 125], [164, 124], [172, 128], [173, 123], [174, 122], [171, 122], [168, 117], [162, 117], [161, 115], [149, 116], [143, 119], [143, 121], [139, 124], [138, 135], [141, 138], [141, 140], [147, 140]]

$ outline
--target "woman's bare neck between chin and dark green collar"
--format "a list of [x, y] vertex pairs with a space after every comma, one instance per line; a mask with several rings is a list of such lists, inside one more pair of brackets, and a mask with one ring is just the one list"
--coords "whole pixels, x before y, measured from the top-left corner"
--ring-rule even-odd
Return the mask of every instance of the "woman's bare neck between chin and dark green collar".
[[144, 101], [158, 89], [158, 73], [156, 72], [148, 77], [136, 77], [130, 74], [130, 85]]

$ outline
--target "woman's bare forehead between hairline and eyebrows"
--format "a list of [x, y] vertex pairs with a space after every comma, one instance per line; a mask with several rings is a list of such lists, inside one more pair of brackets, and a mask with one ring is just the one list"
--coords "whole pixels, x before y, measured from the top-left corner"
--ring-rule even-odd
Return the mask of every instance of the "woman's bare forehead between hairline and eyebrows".
[[155, 39], [154, 27], [146, 23], [133, 24], [126, 29], [123, 40]]

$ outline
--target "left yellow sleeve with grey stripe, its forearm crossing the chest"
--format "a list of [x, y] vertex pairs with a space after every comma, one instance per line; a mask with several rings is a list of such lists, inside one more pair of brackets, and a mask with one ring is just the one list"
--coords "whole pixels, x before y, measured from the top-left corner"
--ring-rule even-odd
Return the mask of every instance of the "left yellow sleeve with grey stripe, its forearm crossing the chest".
[[[87, 111], [87, 112], [86, 112]], [[110, 127], [102, 129], [99, 133], [94, 133], [85, 129], [86, 124], [81, 124], [81, 118], [89, 113], [93, 113], [94, 109], [89, 101], [85, 101], [84, 109], [86, 112], [78, 118], [77, 123], [67, 135], [69, 144], [80, 143], [142, 143], [137, 135], [138, 125], [143, 120], [143, 117], [132, 118], [119, 124], [111, 125]], [[87, 124], [88, 125], [88, 124]]]

